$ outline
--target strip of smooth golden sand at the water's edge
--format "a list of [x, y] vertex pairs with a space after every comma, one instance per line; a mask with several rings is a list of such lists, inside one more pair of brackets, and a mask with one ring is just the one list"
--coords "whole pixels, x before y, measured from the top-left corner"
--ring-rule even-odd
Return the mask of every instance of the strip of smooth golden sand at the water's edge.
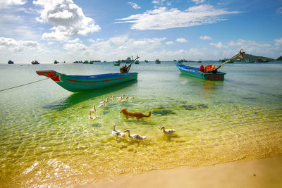
[[282, 187], [282, 156], [220, 163], [200, 168], [181, 166], [75, 187]]

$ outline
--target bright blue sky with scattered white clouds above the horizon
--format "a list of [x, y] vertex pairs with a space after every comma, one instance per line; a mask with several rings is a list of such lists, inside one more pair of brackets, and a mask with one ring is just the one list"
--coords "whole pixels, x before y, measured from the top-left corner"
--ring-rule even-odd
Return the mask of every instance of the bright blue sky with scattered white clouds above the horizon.
[[282, 56], [282, 0], [0, 0], [0, 63]]

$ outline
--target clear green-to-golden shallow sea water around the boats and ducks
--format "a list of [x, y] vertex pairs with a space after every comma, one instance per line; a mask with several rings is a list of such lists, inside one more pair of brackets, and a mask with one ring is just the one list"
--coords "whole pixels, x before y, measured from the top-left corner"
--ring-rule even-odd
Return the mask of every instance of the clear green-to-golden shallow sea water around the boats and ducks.
[[[202, 61], [210, 63], [219, 65]], [[279, 61], [228, 63], [220, 68], [226, 73], [223, 81], [183, 75], [173, 61], [140, 62], [130, 69], [138, 73], [137, 80], [79, 93], [43, 80], [36, 70], [119, 72], [112, 62], [0, 64], [0, 90], [14, 87], [0, 92], [0, 187], [74, 187], [149, 170], [282, 155]], [[123, 94], [135, 99], [114, 99], [97, 108], [106, 98]], [[97, 119], [90, 120], [93, 104]], [[123, 108], [152, 111], [152, 116], [127, 119], [120, 113]], [[113, 124], [147, 139], [114, 137]], [[176, 133], [163, 134], [162, 125]]]

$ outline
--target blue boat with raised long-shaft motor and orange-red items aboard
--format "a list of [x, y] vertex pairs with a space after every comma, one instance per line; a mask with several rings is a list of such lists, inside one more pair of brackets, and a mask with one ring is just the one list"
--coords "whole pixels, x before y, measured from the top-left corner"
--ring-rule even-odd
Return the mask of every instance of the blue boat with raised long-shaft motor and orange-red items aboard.
[[203, 80], [224, 80], [224, 75], [226, 75], [226, 73], [219, 72], [218, 69], [221, 68], [222, 65], [229, 63], [229, 61], [233, 61], [233, 59], [238, 58], [239, 56], [242, 57], [244, 53], [243, 49], [241, 49], [237, 55], [233, 56], [228, 61], [225, 61], [216, 68], [214, 65], [207, 65], [206, 68], [204, 68], [204, 71], [200, 68], [183, 65], [181, 62], [176, 63], [176, 67], [185, 75], [202, 78]]

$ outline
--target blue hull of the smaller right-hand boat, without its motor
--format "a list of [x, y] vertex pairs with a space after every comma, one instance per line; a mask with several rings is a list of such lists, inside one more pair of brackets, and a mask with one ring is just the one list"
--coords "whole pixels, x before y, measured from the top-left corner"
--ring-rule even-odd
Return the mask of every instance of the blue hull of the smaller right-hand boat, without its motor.
[[200, 68], [190, 67], [183, 65], [183, 63], [176, 63], [176, 67], [180, 70], [180, 73], [189, 75], [192, 77], [201, 78], [203, 80], [224, 80], [224, 75], [226, 73], [217, 72], [217, 73], [203, 73], [200, 71]]

